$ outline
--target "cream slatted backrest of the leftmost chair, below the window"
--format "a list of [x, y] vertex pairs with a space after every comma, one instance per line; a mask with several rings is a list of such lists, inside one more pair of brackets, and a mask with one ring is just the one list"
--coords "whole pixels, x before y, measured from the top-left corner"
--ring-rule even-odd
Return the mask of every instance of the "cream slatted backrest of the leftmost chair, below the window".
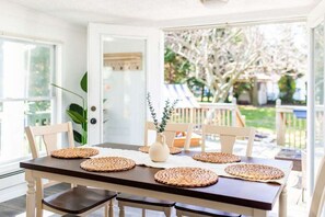
[[33, 159], [39, 157], [39, 150], [37, 149], [36, 137], [43, 138], [46, 152], [50, 155], [50, 151], [56, 150], [58, 134], [67, 133], [69, 147], [73, 147], [73, 129], [71, 122], [50, 125], [50, 126], [28, 126], [25, 128], [26, 136], [30, 142]]

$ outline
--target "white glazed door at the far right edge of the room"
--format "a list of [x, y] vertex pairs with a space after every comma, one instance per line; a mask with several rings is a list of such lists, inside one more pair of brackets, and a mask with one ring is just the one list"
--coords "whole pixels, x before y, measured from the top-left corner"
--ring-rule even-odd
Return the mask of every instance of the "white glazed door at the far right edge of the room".
[[320, 160], [325, 155], [325, 1], [309, 16], [310, 70], [307, 99], [307, 190], [313, 193]]

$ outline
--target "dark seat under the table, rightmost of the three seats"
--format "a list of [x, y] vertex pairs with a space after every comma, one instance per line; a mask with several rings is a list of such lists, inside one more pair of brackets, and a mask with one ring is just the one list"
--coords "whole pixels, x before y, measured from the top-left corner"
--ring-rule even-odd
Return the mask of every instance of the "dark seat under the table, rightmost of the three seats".
[[213, 216], [213, 217], [239, 217], [240, 214], [232, 214], [227, 212], [221, 212], [212, 208], [205, 208], [200, 206], [193, 206], [187, 204], [176, 203], [175, 208], [183, 212], [188, 212], [193, 214], [199, 214], [205, 216]]

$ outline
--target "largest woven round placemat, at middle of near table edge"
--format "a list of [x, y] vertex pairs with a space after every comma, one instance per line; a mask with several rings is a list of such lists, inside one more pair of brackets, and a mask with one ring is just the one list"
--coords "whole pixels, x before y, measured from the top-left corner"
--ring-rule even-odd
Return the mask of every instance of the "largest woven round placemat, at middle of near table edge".
[[170, 168], [156, 172], [154, 180], [174, 186], [201, 187], [217, 183], [218, 175], [201, 168]]

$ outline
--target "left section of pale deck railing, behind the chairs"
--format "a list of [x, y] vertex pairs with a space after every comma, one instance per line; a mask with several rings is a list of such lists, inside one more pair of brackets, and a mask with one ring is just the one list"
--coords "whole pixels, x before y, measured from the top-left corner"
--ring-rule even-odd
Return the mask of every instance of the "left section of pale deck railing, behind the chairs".
[[234, 99], [232, 103], [200, 103], [200, 107], [175, 108], [173, 123], [193, 123], [200, 127], [202, 124], [223, 126], [245, 126]]

